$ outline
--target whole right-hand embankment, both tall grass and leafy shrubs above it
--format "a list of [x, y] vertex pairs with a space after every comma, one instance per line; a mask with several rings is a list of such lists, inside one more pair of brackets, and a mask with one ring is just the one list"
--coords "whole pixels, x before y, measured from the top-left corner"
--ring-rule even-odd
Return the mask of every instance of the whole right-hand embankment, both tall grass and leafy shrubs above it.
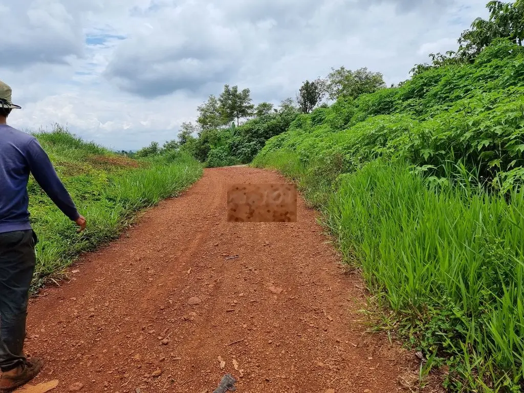
[[523, 391], [523, 127], [524, 49], [497, 41], [300, 115], [253, 163], [323, 211], [383, 328], [451, 391]]

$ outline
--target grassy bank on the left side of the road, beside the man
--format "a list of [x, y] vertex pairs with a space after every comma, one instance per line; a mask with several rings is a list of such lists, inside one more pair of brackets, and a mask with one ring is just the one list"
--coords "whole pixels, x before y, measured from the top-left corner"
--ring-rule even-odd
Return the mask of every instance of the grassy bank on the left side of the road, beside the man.
[[81, 252], [117, 237], [141, 209], [176, 196], [202, 174], [200, 163], [178, 152], [136, 161], [85, 142], [59, 126], [35, 136], [88, 221], [86, 230], [77, 234], [76, 226], [30, 179], [29, 212], [39, 238], [35, 288], [71, 265]]

